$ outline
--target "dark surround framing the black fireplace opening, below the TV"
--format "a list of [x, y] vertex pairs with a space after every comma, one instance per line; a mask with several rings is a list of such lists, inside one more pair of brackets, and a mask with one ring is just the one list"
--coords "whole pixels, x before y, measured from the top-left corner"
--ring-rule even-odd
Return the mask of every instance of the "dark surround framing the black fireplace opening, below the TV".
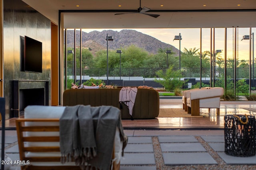
[[[13, 80], [13, 117], [20, 115], [20, 90], [44, 89], [44, 105], [49, 106], [49, 81], [47, 80]], [[36, 94], [35, 94], [36, 95]]]

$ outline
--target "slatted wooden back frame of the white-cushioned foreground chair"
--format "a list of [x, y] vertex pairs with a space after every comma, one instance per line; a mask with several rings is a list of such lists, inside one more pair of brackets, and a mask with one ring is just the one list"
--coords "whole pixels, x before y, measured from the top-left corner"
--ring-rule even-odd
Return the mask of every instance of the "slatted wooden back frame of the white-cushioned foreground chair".
[[[28, 125], [34, 122], [37, 125]], [[46, 125], [44, 125], [46, 124]], [[48, 124], [48, 125], [47, 125]], [[49, 125], [52, 124], [52, 125]], [[20, 160], [24, 165], [22, 170], [80, 170], [80, 166], [75, 166], [74, 162], [67, 165], [60, 163], [59, 141], [59, 119], [16, 119], [16, 129], [18, 135], [18, 145]], [[36, 133], [36, 135], [33, 135]], [[42, 133], [42, 135], [40, 135]], [[51, 133], [51, 135], [46, 135]], [[57, 135], [54, 135], [56, 133]], [[47, 146], [26, 145], [25, 143], [47, 142]], [[55, 145], [54, 145], [55, 142]], [[58, 143], [58, 145], [56, 145]], [[51, 145], [52, 144], [52, 145]], [[112, 152], [114, 159], [114, 149]], [[113, 170], [120, 169], [119, 164], [113, 162]]]

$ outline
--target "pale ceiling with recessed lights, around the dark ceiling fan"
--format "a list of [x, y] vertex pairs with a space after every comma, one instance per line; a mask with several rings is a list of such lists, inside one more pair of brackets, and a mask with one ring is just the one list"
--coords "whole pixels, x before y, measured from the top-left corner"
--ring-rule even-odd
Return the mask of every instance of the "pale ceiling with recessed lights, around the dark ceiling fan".
[[150, 8], [148, 13], [159, 14], [158, 18], [144, 14], [114, 15], [136, 11], [139, 0], [23, 1], [57, 24], [61, 10], [64, 28], [256, 27], [256, 0], [141, 0], [141, 7]]

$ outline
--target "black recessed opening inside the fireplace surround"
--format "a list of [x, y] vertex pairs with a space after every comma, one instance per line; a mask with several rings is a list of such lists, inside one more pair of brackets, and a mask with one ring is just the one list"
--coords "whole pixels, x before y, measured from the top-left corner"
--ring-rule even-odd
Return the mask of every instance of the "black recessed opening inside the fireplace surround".
[[20, 116], [29, 105], [45, 105], [44, 88], [20, 89]]

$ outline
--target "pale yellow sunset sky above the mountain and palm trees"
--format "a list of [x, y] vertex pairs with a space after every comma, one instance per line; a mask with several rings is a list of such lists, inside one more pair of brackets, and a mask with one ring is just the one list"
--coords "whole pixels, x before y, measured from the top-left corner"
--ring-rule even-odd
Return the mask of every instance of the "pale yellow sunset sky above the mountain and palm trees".
[[[82, 31], [89, 33], [90, 31], [103, 31], [108, 29], [82, 29]], [[112, 29], [114, 31], [121, 31], [122, 29]], [[181, 51], [186, 49], [194, 48], [200, 49], [200, 29], [199, 28], [169, 28], [169, 29], [134, 29], [141, 33], [150, 35], [155, 37], [156, 39], [173, 45], [177, 49], [179, 49], [179, 41], [174, 39], [175, 35], [181, 34]], [[256, 28], [252, 28], [252, 33], [256, 33]], [[237, 34], [237, 33], [236, 33]], [[249, 60], [249, 40], [241, 41], [243, 35], [249, 35], [249, 28], [238, 28], [238, 58], [239, 60], [245, 59]], [[223, 50], [223, 58], [224, 58], [224, 28], [215, 28], [215, 50]], [[237, 42], [237, 39], [236, 39]], [[255, 39], [254, 39], [255, 42]], [[233, 58], [233, 28], [227, 29], [227, 58]], [[236, 44], [237, 46], [237, 44]], [[210, 28], [202, 28], [202, 51], [210, 51]], [[255, 53], [255, 45], [254, 45], [254, 53]], [[254, 55], [255, 58], [255, 55]]]

